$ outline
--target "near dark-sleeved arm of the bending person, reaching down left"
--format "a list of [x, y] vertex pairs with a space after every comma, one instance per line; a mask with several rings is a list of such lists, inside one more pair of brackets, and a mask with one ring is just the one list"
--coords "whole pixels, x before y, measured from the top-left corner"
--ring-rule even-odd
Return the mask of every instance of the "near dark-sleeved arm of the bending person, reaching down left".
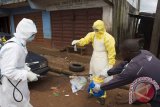
[[123, 85], [130, 84], [137, 77], [137, 72], [139, 71], [139, 69], [141, 69], [141, 67], [137, 66], [136, 63], [129, 63], [128, 66], [126, 66], [117, 77], [112, 79], [109, 83], [102, 84], [101, 89], [111, 90]]

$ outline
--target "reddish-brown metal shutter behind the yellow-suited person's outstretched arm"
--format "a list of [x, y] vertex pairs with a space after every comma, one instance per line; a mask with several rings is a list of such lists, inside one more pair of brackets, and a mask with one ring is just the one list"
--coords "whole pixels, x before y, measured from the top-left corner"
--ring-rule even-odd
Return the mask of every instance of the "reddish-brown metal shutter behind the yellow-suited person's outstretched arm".
[[102, 19], [102, 8], [51, 12], [53, 46], [66, 47], [72, 40], [84, 37], [97, 19]]

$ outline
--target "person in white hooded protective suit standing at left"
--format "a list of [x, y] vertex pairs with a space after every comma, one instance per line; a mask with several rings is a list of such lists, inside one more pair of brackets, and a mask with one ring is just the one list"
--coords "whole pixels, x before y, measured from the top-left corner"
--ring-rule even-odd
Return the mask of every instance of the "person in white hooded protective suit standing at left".
[[14, 37], [0, 51], [0, 107], [33, 107], [30, 104], [28, 81], [37, 81], [38, 75], [25, 64], [26, 43], [37, 33], [34, 22], [23, 18], [17, 25]]

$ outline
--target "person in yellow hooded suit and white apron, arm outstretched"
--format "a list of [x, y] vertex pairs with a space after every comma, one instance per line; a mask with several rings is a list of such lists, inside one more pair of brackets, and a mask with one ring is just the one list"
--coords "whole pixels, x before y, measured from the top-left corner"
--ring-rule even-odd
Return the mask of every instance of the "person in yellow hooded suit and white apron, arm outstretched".
[[[80, 40], [73, 40], [72, 45], [85, 46], [89, 43], [93, 45], [93, 54], [90, 61], [90, 71], [93, 78], [105, 76], [105, 81], [110, 81], [113, 77], [108, 76], [107, 71], [115, 64], [115, 40], [106, 32], [105, 24], [102, 20], [97, 20], [93, 24], [94, 32], [88, 33]], [[103, 96], [105, 98], [106, 95]]]

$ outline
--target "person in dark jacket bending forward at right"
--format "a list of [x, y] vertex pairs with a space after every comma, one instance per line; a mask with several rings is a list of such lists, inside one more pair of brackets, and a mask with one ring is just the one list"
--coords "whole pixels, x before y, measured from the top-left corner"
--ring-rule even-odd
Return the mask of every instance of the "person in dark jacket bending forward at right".
[[107, 91], [131, 84], [129, 102], [150, 103], [160, 107], [160, 60], [147, 50], [140, 50], [136, 40], [122, 43], [120, 52], [123, 62], [110, 69], [108, 75], [117, 76], [108, 83], [94, 85], [95, 91]]

